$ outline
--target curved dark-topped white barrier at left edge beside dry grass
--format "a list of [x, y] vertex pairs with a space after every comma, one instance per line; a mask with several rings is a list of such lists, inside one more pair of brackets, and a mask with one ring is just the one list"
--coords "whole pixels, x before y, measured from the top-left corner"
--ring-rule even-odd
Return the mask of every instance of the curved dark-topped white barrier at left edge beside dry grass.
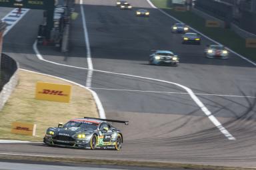
[[9, 96], [11, 96], [11, 93], [15, 89], [15, 86], [18, 83], [18, 70], [19, 66], [13, 58], [10, 56], [7, 56], [6, 54], [1, 55], [1, 72], [5, 70], [7, 72], [7, 76], [9, 78], [6, 79], [5, 85], [3, 86], [1, 92], [0, 92], [0, 110], [3, 109], [3, 106], [9, 99]]

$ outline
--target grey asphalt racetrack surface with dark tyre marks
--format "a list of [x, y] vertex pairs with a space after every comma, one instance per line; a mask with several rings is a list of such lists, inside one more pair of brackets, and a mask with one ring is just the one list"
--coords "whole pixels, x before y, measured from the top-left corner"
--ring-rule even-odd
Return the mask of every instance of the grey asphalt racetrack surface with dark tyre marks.
[[[203, 50], [206, 44], [211, 44], [210, 41], [203, 38], [201, 46], [183, 45], [181, 35], [170, 31], [170, 26], [175, 23], [173, 19], [152, 9], [145, 0], [130, 2], [135, 9], [149, 9], [151, 17], [135, 17], [135, 9], [121, 11], [111, 0], [85, 1], [83, 9], [95, 69], [176, 82], [200, 94], [256, 96], [256, 74], [252, 64], [233, 54], [229, 60], [204, 58]], [[76, 11], [80, 13], [79, 10], [77, 5]], [[41, 16], [42, 11], [29, 11], [5, 36], [4, 52], [18, 60], [21, 68], [85, 85], [86, 70], [37, 60], [31, 46], [37, 35], [37, 26], [42, 21]], [[81, 23], [80, 15], [71, 29], [71, 52], [61, 56], [53, 48], [41, 46], [39, 50], [45, 59], [86, 68]], [[149, 49], [173, 50], [181, 57], [180, 66], [149, 66]], [[33, 143], [1, 144], [0, 153], [256, 167], [255, 98], [198, 95], [236, 138], [231, 141], [213, 126], [189, 95], [179, 94], [185, 91], [177, 86], [94, 72], [91, 88], [101, 98], [107, 118], [131, 122], [127, 127], [117, 125], [125, 134], [122, 151], [84, 151]], [[124, 89], [176, 93], [120, 91]]]

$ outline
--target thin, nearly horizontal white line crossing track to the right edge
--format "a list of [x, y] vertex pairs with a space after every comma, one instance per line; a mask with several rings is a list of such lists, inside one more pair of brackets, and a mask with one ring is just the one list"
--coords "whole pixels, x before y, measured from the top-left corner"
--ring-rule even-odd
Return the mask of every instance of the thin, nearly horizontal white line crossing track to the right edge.
[[[163, 94], [188, 94], [185, 92], [163, 92], [163, 91], [150, 91], [150, 90], [129, 90], [129, 89], [116, 89], [116, 88], [91, 88], [95, 90], [112, 90], [112, 91], [123, 91], [123, 92], [149, 92], [149, 93], [163, 93]], [[229, 98], [256, 98], [255, 96], [236, 96], [228, 94], [205, 94], [205, 93], [195, 93], [197, 96], [219, 96], [219, 97], [229, 97]]]

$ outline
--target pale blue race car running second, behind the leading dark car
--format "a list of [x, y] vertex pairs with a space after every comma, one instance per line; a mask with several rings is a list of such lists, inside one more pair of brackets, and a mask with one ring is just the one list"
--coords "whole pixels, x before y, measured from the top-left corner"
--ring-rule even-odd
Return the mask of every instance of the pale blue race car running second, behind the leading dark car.
[[178, 63], [179, 57], [170, 50], [155, 50], [149, 58], [149, 64], [152, 65], [177, 66]]

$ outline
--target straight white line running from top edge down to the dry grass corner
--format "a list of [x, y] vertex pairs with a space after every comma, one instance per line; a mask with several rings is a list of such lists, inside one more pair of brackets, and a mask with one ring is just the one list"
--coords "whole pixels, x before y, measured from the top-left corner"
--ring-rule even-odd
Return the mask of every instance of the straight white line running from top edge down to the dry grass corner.
[[93, 78], [93, 62], [91, 60], [91, 48], [89, 42], [89, 35], [86, 27], [86, 20], [85, 20], [85, 12], [83, 10], [83, 0], [80, 0], [80, 10], [83, 20], [83, 34], [85, 36], [85, 45], [87, 50], [87, 65], [88, 65], [88, 72], [87, 72], [87, 79], [86, 79], [86, 86], [87, 88], [91, 87], [91, 81]]

